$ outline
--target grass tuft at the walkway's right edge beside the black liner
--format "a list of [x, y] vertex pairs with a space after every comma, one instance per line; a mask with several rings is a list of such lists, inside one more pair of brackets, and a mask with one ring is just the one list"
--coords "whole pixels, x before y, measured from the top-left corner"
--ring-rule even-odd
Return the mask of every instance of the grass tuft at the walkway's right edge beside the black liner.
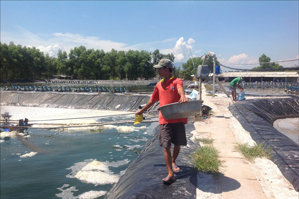
[[238, 145], [235, 146], [235, 149], [241, 152], [250, 162], [253, 162], [257, 157], [265, 157], [267, 159], [272, 158], [271, 147], [266, 147], [264, 142], [255, 144], [254, 146], [238, 143]]

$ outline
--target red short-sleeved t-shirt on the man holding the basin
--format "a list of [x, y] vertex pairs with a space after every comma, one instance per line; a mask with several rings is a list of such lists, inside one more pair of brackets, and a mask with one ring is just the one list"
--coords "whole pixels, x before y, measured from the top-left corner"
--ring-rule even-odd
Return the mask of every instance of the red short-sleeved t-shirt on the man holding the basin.
[[[172, 76], [172, 78], [167, 81], [166, 85], [163, 79], [156, 84], [150, 99], [153, 101], [160, 101], [160, 106], [178, 102], [180, 99], [180, 95], [177, 92], [178, 88], [183, 88], [183, 81], [181, 79]], [[159, 125], [177, 122], [185, 122], [185, 124], [187, 124], [187, 121], [187, 117], [180, 119], [165, 119], [159, 111]]]

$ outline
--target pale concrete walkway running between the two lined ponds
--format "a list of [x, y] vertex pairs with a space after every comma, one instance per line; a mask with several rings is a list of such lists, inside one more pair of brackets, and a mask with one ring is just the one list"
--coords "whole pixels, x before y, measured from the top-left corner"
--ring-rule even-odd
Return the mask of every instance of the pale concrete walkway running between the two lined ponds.
[[217, 105], [210, 102], [205, 94], [205, 90], [203, 89], [203, 103], [211, 106], [213, 113], [209, 119], [210, 125], [196, 130], [199, 133], [210, 133], [211, 138], [214, 139], [213, 145], [219, 151], [220, 159], [225, 161], [223, 162], [224, 168], [221, 168], [223, 175], [215, 179], [216, 189], [219, 191], [214, 192], [214, 194], [218, 196], [208, 198], [267, 199], [247, 160], [242, 154], [234, 150], [237, 141], [229, 128], [227, 119], [223, 116]]

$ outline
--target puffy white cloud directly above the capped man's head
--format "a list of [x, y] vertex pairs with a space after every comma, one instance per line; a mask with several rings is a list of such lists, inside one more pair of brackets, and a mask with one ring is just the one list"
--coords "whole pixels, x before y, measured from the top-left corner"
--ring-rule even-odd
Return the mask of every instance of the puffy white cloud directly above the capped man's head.
[[[189, 42], [193, 43], [195, 42], [195, 40], [190, 38], [188, 39], [187, 43], [189, 44]], [[175, 62], [186, 62], [189, 59], [189, 57], [191, 57], [190, 49], [193, 49], [193, 46], [188, 45], [187, 43], [184, 42], [184, 37], [181, 37], [176, 41], [175, 46], [173, 48], [161, 49], [160, 53], [172, 53], [175, 57]]]

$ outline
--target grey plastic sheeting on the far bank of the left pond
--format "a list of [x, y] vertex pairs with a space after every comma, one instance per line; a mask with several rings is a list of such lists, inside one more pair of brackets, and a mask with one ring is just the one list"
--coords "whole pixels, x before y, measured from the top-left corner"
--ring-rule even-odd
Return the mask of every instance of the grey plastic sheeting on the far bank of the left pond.
[[[115, 94], [50, 94], [50, 93], [11, 93], [1, 92], [1, 105], [32, 106], [48, 108], [83, 108], [119, 111], [137, 111], [149, 96]], [[156, 109], [156, 102], [151, 109]]]

